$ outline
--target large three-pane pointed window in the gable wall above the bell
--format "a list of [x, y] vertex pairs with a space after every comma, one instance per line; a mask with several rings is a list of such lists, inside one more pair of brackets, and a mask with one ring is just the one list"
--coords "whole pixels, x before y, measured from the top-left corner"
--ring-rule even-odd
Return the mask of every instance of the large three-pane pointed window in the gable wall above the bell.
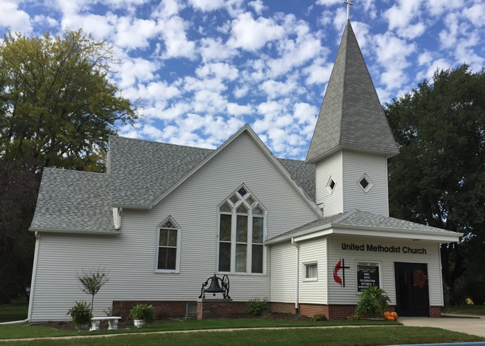
[[265, 272], [266, 210], [242, 185], [219, 205], [218, 271]]

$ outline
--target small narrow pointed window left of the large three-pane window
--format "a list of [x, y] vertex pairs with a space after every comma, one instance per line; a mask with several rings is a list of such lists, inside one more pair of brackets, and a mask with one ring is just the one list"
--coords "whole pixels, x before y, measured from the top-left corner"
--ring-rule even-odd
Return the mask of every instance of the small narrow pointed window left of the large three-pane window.
[[168, 217], [159, 224], [156, 271], [162, 273], [178, 273], [181, 231], [181, 228], [175, 223], [172, 217]]

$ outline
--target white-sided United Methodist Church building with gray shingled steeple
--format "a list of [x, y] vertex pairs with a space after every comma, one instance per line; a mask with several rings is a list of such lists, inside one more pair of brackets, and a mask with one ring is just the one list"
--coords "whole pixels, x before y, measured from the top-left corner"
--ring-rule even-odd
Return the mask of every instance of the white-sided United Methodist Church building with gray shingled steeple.
[[389, 217], [396, 154], [348, 21], [306, 161], [276, 158], [245, 125], [215, 150], [112, 136], [105, 173], [46, 168], [28, 319], [69, 320], [90, 301], [77, 279], [89, 268], [109, 277], [95, 316], [137, 302], [185, 316], [215, 273], [233, 316], [267, 298], [344, 319], [372, 284], [402, 316], [439, 317], [440, 244], [462, 234]]

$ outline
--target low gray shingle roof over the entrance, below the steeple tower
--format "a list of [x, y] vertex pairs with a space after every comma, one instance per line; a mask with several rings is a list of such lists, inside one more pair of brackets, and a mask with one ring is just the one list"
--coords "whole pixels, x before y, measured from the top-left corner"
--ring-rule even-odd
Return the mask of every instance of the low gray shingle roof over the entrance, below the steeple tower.
[[450, 230], [442, 230], [441, 228], [426, 226], [422, 224], [416, 224], [415, 222], [405, 221], [401, 219], [395, 219], [394, 217], [387, 217], [384, 215], [373, 214], [372, 212], [364, 212], [361, 210], [351, 210], [349, 212], [343, 212], [330, 217], [323, 217], [315, 221], [311, 221], [308, 224], [289, 230], [286, 233], [272, 237], [268, 239], [268, 242], [273, 242], [276, 239], [288, 239], [289, 237], [297, 237], [308, 233], [308, 230], [314, 228], [321, 228], [328, 226], [349, 226], [350, 228], [358, 227], [372, 227], [372, 228], [389, 228], [394, 230], [420, 230], [427, 232], [446, 232], [450, 234], [457, 234]]

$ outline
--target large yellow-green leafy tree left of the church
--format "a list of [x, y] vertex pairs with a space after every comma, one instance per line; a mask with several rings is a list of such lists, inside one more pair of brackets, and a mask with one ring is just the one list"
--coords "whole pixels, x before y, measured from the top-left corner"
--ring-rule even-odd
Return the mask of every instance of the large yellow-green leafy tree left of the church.
[[0, 300], [30, 285], [44, 167], [100, 172], [109, 135], [137, 109], [109, 78], [112, 47], [67, 31], [0, 44]]

